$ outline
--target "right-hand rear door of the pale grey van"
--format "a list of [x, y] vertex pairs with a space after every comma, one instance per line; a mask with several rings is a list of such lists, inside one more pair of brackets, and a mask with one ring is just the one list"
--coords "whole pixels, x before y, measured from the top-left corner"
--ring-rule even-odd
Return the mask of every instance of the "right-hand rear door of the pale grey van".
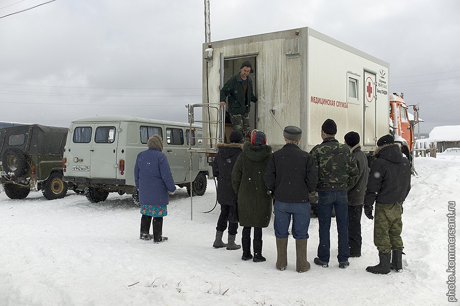
[[117, 177], [117, 143], [120, 123], [98, 123], [94, 125], [94, 137], [91, 142], [91, 169], [92, 178]]

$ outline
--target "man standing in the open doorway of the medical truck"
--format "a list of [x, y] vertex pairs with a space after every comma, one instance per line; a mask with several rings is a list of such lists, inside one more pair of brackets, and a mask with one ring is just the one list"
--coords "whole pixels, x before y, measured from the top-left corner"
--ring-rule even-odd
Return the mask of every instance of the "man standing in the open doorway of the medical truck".
[[[240, 130], [244, 136], [249, 135], [249, 111], [251, 101], [256, 103], [257, 97], [252, 91], [252, 80], [249, 77], [252, 65], [245, 61], [241, 64], [240, 72], [231, 77], [220, 89], [220, 105], [226, 106], [228, 96], [228, 113], [235, 130]], [[249, 136], [250, 137], [250, 136]]]

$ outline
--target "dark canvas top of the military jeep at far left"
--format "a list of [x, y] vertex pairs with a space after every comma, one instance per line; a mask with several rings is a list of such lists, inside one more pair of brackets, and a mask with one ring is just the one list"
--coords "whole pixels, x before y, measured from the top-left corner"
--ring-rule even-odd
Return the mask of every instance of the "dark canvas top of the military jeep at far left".
[[6, 127], [0, 130], [0, 155], [16, 147], [30, 155], [62, 156], [68, 128], [39, 124]]

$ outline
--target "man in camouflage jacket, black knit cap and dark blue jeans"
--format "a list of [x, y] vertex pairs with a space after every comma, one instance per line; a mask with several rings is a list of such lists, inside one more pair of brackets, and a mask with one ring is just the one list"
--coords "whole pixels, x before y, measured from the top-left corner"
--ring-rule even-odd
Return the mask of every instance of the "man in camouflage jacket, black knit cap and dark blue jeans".
[[319, 245], [318, 257], [313, 260], [316, 265], [329, 267], [331, 257], [331, 218], [332, 209], [336, 212], [339, 253], [339, 268], [350, 265], [348, 257], [348, 198], [347, 190], [352, 180], [358, 175], [356, 160], [350, 148], [339, 143], [335, 138], [337, 125], [327, 119], [321, 126], [323, 142], [313, 147], [310, 154], [318, 169], [318, 223]]

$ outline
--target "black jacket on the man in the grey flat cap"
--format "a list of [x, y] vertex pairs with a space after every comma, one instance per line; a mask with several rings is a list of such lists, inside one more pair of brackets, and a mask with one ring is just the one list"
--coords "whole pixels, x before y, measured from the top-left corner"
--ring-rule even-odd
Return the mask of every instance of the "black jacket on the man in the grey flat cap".
[[308, 194], [318, 182], [318, 169], [308, 152], [294, 143], [287, 143], [271, 156], [264, 180], [277, 200], [308, 202]]

